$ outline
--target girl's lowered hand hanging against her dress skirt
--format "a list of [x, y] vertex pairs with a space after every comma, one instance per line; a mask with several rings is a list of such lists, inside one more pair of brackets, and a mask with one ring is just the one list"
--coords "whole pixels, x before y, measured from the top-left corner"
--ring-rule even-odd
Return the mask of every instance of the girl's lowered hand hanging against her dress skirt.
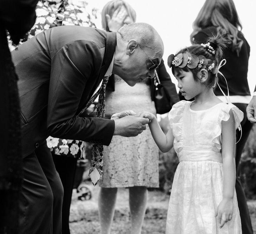
[[232, 219], [233, 215], [233, 198], [223, 198], [215, 212], [217, 224], [222, 228], [224, 224]]

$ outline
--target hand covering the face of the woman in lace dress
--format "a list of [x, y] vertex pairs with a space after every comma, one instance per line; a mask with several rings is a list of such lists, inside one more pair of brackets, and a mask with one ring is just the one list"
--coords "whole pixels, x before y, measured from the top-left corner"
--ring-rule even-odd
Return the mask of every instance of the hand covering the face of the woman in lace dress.
[[117, 32], [122, 26], [124, 26], [124, 20], [127, 17], [127, 11], [122, 5], [114, 11], [112, 18], [106, 14], [107, 26], [111, 32]]

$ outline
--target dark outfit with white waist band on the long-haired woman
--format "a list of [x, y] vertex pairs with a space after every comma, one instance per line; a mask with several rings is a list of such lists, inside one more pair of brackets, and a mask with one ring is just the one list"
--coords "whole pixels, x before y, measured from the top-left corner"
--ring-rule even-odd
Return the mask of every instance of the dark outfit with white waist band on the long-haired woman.
[[[212, 33], [216, 33], [216, 32], [217, 32], [216, 27], [205, 28], [202, 31], [199, 31], [192, 38], [192, 40], [194, 42], [197, 42], [198, 44], [206, 43], [207, 38], [209, 38], [209, 36]], [[238, 32], [238, 36], [243, 40], [243, 45], [242, 45], [241, 51], [239, 52], [239, 56], [237, 55], [236, 52], [233, 52], [229, 47], [226, 48], [224, 50], [224, 59], [227, 60], [227, 63], [223, 67], [221, 67], [220, 71], [227, 79], [231, 102], [244, 113], [244, 119], [241, 122], [242, 132], [243, 132], [242, 138], [236, 144], [235, 157], [236, 157], [237, 177], [236, 177], [235, 187], [236, 187], [236, 193], [237, 193], [238, 208], [241, 216], [242, 232], [246, 234], [252, 234], [253, 230], [251, 226], [250, 214], [247, 207], [245, 194], [239, 178], [239, 175], [240, 175], [239, 161], [241, 159], [244, 145], [247, 141], [247, 138], [249, 136], [250, 130], [253, 125], [252, 123], [250, 123], [250, 121], [248, 121], [247, 114], [246, 114], [246, 107], [251, 99], [250, 90], [249, 90], [248, 81], [247, 81], [250, 46], [241, 32]], [[224, 93], [227, 95], [228, 93], [227, 85], [224, 78], [220, 78], [218, 83], [219, 83], [219, 86], [224, 91]], [[215, 95], [218, 96], [218, 98], [225, 101], [225, 99], [223, 99], [223, 94], [220, 91], [219, 87], [217, 87], [214, 92], [215, 92]], [[241, 134], [240, 132], [237, 132], [237, 140], [240, 138], [240, 134]]]

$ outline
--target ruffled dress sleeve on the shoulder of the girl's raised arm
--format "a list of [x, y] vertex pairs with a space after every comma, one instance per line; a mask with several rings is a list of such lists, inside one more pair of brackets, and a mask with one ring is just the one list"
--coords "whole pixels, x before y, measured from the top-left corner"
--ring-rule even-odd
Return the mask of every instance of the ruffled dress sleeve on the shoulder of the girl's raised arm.
[[182, 100], [175, 103], [172, 106], [172, 109], [168, 114], [170, 128], [172, 128], [173, 123], [178, 123], [182, 121], [183, 112], [187, 104], [188, 104], [188, 101]]

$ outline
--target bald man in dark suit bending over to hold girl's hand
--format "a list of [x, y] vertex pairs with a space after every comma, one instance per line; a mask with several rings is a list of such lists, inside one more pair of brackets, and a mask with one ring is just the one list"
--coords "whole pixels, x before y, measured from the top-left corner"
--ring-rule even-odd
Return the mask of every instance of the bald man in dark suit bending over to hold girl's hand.
[[159, 34], [144, 23], [126, 25], [117, 33], [54, 27], [12, 52], [19, 76], [24, 169], [19, 233], [61, 233], [63, 187], [46, 138], [109, 145], [113, 135], [141, 133], [149, 120], [132, 111], [111, 119], [79, 113], [104, 76], [117, 74], [134, 86], [153, 78], [162, 56]]

